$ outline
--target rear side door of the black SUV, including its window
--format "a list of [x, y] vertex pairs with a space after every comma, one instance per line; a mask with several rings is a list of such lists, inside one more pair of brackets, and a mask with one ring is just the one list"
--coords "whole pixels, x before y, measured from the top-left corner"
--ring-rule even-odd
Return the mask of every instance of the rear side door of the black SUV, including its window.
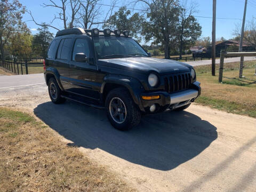
[[60, 74], [60, 82], [65, 90], [69, 89], [69, 62], [73, 38], [61, 39], [55, 59], [55, 68]]

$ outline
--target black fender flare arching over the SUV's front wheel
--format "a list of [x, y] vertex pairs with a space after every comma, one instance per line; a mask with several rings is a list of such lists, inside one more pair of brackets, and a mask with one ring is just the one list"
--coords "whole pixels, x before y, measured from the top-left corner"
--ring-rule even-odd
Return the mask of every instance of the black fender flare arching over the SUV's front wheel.
[[103, 83], [100, 87], [100, 93], [103, 95], [103, 90], [106, 84], [112, 83], [126, 87], [129, 90], [135, 104], [138, 105], [141, 111], [145, 111], [142, 106], [140, 95], [143, 92], [143, 86], [138, 79], [123, 75], [107, 75], [103, 78]]

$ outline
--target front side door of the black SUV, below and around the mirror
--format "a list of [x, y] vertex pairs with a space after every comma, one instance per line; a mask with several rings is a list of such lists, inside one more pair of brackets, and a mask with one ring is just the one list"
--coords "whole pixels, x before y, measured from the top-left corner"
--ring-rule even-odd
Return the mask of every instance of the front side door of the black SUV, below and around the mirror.
[[95, 63], [77, 62], [75, 55], [84, 53], [87, 58], [93, 58], [93, 50], [90, 49], [90, 38], [77, 38], [69, 63], [69, 92], [83, 95], [91, 99], [99, 99], [99, 83], [97, 83], [97, 66]]

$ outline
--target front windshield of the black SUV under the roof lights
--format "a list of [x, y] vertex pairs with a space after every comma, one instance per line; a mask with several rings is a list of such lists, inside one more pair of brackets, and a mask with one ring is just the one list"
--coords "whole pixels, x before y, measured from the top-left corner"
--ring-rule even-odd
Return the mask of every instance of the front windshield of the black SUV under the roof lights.
[[148, 57], [147, 52], [132, 38], [94, 37], [94, 46], [99, 59]]

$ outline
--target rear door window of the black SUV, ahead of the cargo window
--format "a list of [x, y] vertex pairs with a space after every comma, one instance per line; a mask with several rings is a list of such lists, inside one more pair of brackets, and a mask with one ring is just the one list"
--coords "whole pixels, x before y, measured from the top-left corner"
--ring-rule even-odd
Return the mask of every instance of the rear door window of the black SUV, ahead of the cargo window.
[[71, 38], [61, 39], [58, 53], [57, 53], [57, 59], [61, 60], [68, 60], [70, 49], [71, 49]]

